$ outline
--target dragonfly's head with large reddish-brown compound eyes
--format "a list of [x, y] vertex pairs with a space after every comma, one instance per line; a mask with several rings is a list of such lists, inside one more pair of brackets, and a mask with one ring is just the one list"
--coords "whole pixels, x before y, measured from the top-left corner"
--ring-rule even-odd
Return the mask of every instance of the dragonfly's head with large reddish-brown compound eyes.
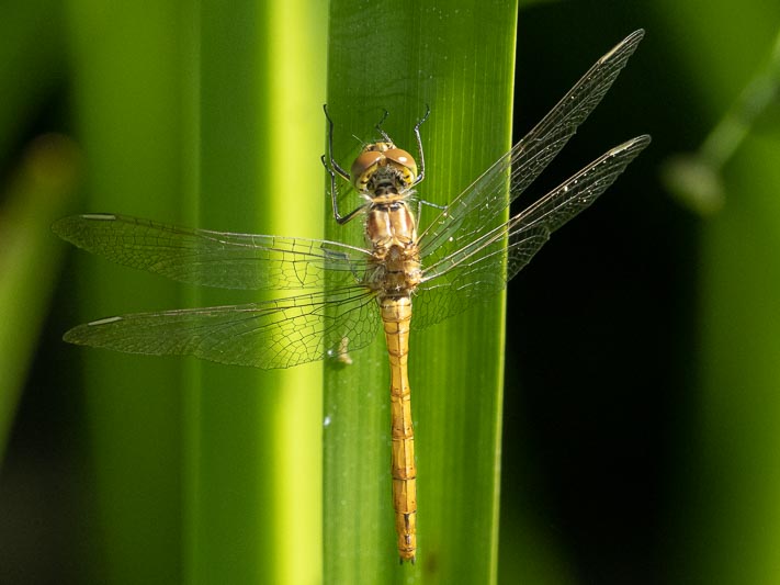
[[359, 193], [371, 196], [380, 191], [403, 193], [417, 179], [417, 162], [393, 143], [373, 143], [354, 159], [351, 177]]

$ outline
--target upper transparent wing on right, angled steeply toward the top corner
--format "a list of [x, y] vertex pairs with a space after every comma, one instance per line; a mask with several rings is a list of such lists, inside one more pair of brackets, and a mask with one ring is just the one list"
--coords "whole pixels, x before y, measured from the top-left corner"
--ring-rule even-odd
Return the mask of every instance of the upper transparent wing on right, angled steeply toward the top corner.
[[539, 177], [599, 104], [643, 36], [642, 30], [632, 33], [596, 61], [522, 140], [433, 220], [420, 235], [423, 263], [437, 263], [496, 227], [499, 214]]

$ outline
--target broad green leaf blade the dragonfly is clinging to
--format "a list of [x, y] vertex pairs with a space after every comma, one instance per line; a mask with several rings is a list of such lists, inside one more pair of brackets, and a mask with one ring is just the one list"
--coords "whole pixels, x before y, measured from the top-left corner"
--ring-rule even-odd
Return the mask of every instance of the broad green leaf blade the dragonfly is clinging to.
[[[420, 196], [452, 200], [510, 147], [516, 10], [513, 2], [479, 9], [404, 2], [366, 45], [358, 23], [371, 20], [370, 11], [331, 3], [328, 103], [337, 160], [348, 167], [357, 154], [352, 134], [376, 137], [384, 110], [383, 128], [414, 155], [411, 130], [428, 104]], [[421, 226], [432, 216], [423, 207]], [[334, 227], [328, 236], [340, 239], [343, 232]], [[362, 244], [359, 229], [348, 233], [350, 243]], [[414, 566], [399, 566], [395, 550], [384, 340], [354, 352], [352, 365], [326, 370], [326, 415], [334, 415], [325, 439], [326, 583], [495, 582], [502, 324], [504, 301], [496, 297], [412, 331]]]

